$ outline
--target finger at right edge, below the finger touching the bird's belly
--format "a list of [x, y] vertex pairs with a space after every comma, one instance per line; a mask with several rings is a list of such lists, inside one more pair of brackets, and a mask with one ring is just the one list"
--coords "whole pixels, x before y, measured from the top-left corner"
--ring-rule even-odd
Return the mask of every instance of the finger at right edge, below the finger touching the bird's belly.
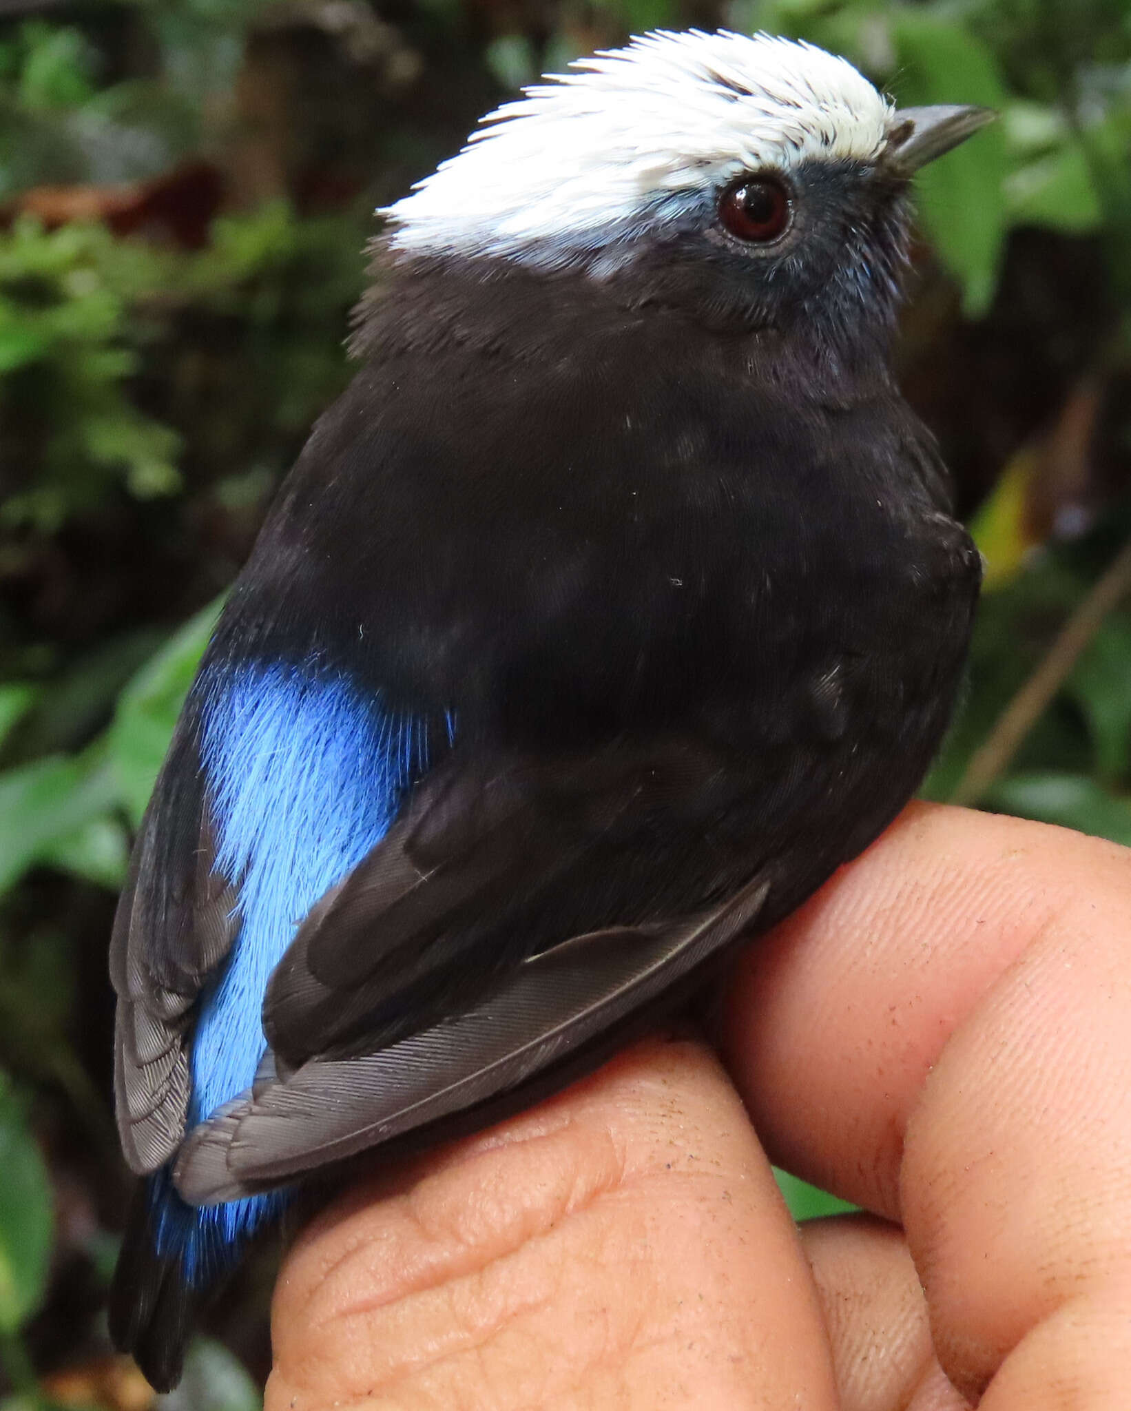
[[[904, 1222], [939, 1359], [972, 1397], [994, 1379], [1001, 1411], [1127, 1405], [1128, 903], [1125, 886], [1097, 890], [1048, 924], [955, 1033], [908, 1123]], [[1089, 1394], [1042, 1381], [1053, 1362], [1069, 1383], [1090, 1374]]]

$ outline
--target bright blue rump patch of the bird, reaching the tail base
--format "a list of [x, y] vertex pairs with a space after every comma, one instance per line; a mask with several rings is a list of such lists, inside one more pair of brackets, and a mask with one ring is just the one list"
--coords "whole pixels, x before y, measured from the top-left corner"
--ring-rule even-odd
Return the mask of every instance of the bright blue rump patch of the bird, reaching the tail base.
[[[217, 669], [202, 684], [216, 866], [237, 883], [240, 930], [202, 993], [190, 1126], [251, 1086], [267, 1047], [261, 1010], [272, 969], [310, 907], [381, 841], [427, 768], [426, 721], [384, 708], [340, 676], [248, 665]], [[267, 1195], [193, 1209], [164, 1173], [149, 1189], [158, 1250], [179, 1249], [190, 1281], [216, 1271], [221, 1250], [283, 1204]]]

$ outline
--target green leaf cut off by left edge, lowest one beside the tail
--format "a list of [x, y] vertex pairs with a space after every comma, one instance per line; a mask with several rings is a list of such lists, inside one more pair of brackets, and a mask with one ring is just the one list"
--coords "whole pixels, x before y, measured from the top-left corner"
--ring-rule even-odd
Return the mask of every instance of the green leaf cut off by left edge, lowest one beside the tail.
[[7, 1077], [0, 1074], [0, 1332], [35, 1312], [51, 1263], [51, 1180]]

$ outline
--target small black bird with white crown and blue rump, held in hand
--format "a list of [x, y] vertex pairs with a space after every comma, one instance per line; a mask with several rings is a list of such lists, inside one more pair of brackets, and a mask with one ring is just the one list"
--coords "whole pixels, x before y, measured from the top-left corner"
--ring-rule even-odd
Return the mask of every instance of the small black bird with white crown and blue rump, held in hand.
[[919, 786], [980, 557], [891, 353], [914, 174], [990, 117], [656, 31], [379, 213], [114, 920], [158, 1390], [296, 1191], [592, 1070]]

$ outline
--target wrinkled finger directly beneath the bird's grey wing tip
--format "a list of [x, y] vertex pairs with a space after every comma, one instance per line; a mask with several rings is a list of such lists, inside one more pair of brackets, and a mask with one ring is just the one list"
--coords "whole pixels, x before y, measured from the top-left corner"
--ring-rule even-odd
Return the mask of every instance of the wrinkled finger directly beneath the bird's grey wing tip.
[[267, 1411], [835, 1407], [795, 1228], [702, 1047], [637, 1047], [413, 1175], [288, 1256]]

